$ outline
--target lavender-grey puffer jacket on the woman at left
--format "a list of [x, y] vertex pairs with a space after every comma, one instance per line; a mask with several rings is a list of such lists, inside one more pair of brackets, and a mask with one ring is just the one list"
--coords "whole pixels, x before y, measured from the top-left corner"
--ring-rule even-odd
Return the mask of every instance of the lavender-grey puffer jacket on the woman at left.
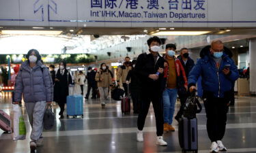
[[21, 101], [22, 96], [25, 103], [53, 101], [51, 75], [47, 67], [40, 61], [33, 68], [29, 67], [28, 61], [23, 62], [20, 66], [14, 88], [14, 101]]

